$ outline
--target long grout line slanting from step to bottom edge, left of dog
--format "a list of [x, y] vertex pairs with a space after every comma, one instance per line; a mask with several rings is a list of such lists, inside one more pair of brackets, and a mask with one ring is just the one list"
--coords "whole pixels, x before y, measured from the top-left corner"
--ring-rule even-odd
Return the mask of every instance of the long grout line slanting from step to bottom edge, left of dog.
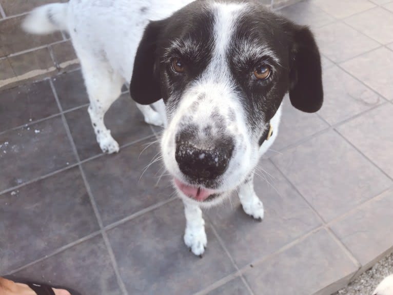
[[54, 85], [53, 85], [53, 81], [52, 81], [52, 80], [50, 80], [50, 85], [51, 85], [53, 94], [54, 94], [54, 96], [55, 96], [55, 99], [56, 99], [58, 108], [59, 108], [60, 111], [62, 112], [63, 124], [64, 124], [64, 127], [65, 127], [65, 129], [66, 129], [67, 136], [68, 136], [68, 139], [69, 139], [70, 144], [71, 144], [71, 146], [72, 146], [72, 149], [73, 149], [73, 151], [74, 151], [74, 156], [76, 157], [77, 164], [78, 164], [79, 170], [80, 170], [80, 172], [81, 172], [83, 182], [84, 182], [84, 184], [85, 184], [87, 193], [88, 193], [88, 195], [89, 195], [89, 199], [90, 199], [91, 206], [92, 206], [92, 208], [93, 208], [93, 211], [94, 211], [95, 217], [96, 217], [96, 219], [97, 219], [97, 222], [98, 222], [98, 224], [99, 224], [99, 226], [100, 226], [101, 234], [102, 234], [102, 237], [103, 237], [105, 246], [106, 246], [106, 248], [107, 248], [107, 251], [108, 251], [108, 254], [109, 254], [111, 263], [112, 263], [112, 267], [113, 267], [113, 270], [114, 270], [114, 273], [115, 273], [115, 276], [116, 276], [117, 283], [119, 284], [119, 287], [120, 287], [122, 293], [123, 293], [124, 295], [128, 295], [126, 286], [125, 286], [125, 284], [124, 284], [124, 282], [123, 282], [123, 279], [122, 279], [122, 277], [121, 277], [121, 275], [120, 275], [120, 270], [119, 270], [119, 267], [117, 266], [117, 262], [116, 262], [116, 259], [115, 259], [115, 256], [114, 256], [114, 253], [113, 253], [111, 244], [110, 244], [110, 242], [109, 242], [107, 233], [106, 233], [106, 231], [104, 230], [103, 221], [102, 221], [102, 218], [101, 218], [101, 215], [100, 215], [100, 211], [99, 211], [99, 209], [98, 209], [98, 207], [97, 207], [97, 204], [95, 203], [95, 200], [94, 200], [94, 197], [93, 197], [93, 194], [92, 194], [90, 185], [89, 185], [89, 183], [88, 183], [88, 181], [87, 181], [85, 171], [83, 170], [83, 167], [82, 167], [82, 164], [81, 164], [81, 160], [80, 160], [79, 154], [78, 154], [78, 152], [77, 152], [75, 143], [74, 143], [74, 141], [73, 141], [73, 138], [72, 138], [72, 135], [71, 135], [71, 131], [70, 131], [70, 128], [69, 128], [69, 126], [68, 126], [66, 117], [65, 117], [65, 115], [64, 115], [64, 113], [63, 113], [62, 106], [61, 106], [61, 104], [60, 104], [60, 101], [58, 100], [57, 92], [56, 92], [56, 89], [54, 88]]

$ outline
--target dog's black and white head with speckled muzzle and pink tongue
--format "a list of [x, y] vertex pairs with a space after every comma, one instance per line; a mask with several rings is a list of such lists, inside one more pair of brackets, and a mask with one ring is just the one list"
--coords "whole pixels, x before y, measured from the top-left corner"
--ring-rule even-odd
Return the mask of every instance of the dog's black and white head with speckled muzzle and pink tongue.
[[137, 103], [163, 98], [166, 168], [184, 198], [203, 204], [255, 169], [261, 137], [288, 91], [294, 107], [320, 109], [318, 47], [308, 28], [256, 1], [195, 1], [151, 22], [130, 85]]

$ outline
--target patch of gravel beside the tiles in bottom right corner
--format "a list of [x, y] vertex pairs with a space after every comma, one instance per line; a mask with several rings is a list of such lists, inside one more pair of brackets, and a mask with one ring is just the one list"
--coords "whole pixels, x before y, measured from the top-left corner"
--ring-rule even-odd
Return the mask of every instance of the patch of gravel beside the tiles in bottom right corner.
[[333, 295], [372, 295], [378, 284], [393, 273], [393, 253]]

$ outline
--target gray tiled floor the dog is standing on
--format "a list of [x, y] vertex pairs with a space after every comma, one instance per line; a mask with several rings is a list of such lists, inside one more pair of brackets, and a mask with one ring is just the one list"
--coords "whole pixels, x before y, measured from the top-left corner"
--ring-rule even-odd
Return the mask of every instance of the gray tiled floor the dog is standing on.
[[393, 250], [392, 7], [310, 0], [282, 10], [316, 33], [325, 104], [305, 114], [286, 99], [255, 180], [264, 222], [235, 197], [206, 211], [203, 259], [183, 244], [182, 204], [161, 164], [142, 175], [157, 129], [127, 94], [106, 116], [121, 151], [103, 155], [80, 71], [0, 92], [0, 274], [100, 295], [328, 295], [345, 285]]

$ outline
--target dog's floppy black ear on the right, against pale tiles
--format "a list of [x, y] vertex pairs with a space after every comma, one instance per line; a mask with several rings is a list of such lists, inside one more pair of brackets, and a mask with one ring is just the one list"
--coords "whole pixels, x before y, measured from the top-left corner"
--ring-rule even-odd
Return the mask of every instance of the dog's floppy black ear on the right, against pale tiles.
[[291, 104], [304, 112], [318, 111], [323, 103], [321, 56], [307, 27], [293, 25], [290, 58]]

